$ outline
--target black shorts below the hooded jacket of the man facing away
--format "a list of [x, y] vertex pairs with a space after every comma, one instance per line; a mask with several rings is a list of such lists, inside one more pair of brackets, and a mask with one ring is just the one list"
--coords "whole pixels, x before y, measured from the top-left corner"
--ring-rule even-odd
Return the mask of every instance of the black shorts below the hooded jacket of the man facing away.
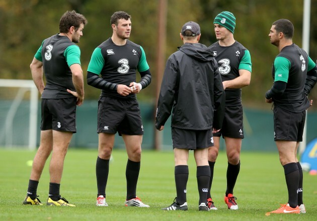
[[204, 149], [213, 146], [212, 129], [209, 130], [184, 130], [172, 128], [173, 149]]

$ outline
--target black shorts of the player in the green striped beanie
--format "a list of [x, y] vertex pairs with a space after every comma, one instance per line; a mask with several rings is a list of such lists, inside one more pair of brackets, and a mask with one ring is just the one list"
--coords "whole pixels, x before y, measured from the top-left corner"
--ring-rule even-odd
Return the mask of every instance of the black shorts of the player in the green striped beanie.
[[225, 106], [222, 128], [214, 133], [214, 137], [245, 138], [243, 132], [243, 108], [239, 106]]

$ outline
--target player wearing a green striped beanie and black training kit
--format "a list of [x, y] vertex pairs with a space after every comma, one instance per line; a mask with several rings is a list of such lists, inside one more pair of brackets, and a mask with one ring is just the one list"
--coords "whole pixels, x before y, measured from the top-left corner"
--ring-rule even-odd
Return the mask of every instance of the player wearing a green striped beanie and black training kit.
[[233, 188], [240, 171], [240, 152], [243, 132], [243, 108], [241, 88], [250, 84], [252, 63], [250, 52], [233, 38], [235, 17], [230, 12], [221, 12], [213, 21], [217, 42], [209, 48], [213, 51], [218, 62], [223, 88], [225, 89], [225, 114], [222, 128], [213, 134], [214, 146], [208, 150], [210, 167], [210, 183], [207, 194], [210, 209], [217, 209], [212, 201], [210, 189], [214, 165], [219, 152], [220, 136], [223, 137], [228, 159], [227, 188], [224, 201], [228, 209], [237, 209]]

